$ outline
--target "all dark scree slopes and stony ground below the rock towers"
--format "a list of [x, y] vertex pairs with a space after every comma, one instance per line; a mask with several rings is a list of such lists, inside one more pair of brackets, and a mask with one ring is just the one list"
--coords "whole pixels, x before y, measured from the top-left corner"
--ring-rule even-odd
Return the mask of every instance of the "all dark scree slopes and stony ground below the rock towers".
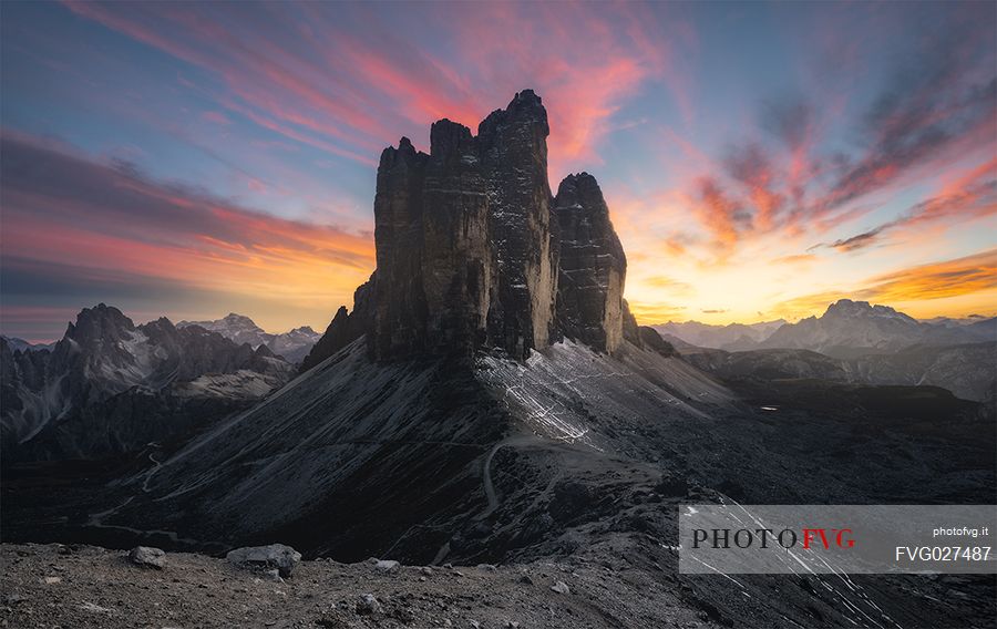
[[[724, 383], [637, 347], [443, 364], [386, 372], [354, 344], [185, 443], [6, 470], [3, 618], [984, 628], [997, 613], [993, 576], [682, 575], [675, 546], [681, 504], [986, 503], [997, 425], [979, 403], [925, 386]], [[282, 584], [222, 558], [274, 542], [305, 555]], [[130, 565], [140, 544], [166, 549], [167, 567]], [[357, 611], [368, 594], [380, 611]]]

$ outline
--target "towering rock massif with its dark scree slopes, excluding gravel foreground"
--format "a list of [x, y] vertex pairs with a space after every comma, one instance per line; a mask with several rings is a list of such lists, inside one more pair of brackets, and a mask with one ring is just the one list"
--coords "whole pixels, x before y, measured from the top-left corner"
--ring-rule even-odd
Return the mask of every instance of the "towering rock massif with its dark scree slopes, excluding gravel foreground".
[[[4, 532], [215, 551], [280, 540], [340, 560], [569, 559], [636, 576], [648, 585], [631, 598], [667, 591], [718, 626], [989, 613], [904, 600], [914, 579], [675, 575], [681, 503], [985, 501], [994, 419], [924, 388], [733, 388], [677, 357], [623, 300], [626, 259], [595, 179], [573, 175], [551, 196], [546, 135], [525, 91], [477, 136], [444, 120], [429, 155], [404, 138], [386, 149], [378, 268], [304, 371], [91, 485], [39, 499], [35, 472], [14, 471]], [[627, 605], [594, 625], [633, 626]], [[650, 618], [668, 625], [667, 610]]]

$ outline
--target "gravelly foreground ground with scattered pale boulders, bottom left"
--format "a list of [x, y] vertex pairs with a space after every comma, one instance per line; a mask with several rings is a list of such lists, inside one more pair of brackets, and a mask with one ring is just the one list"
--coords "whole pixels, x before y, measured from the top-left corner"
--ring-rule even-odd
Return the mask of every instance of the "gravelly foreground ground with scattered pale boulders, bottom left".
[[3, 627], [713, 627], [637, 569], [584, 560], [419, 567], [301, 561], [284, 579], [225, 559], [4, 544]]

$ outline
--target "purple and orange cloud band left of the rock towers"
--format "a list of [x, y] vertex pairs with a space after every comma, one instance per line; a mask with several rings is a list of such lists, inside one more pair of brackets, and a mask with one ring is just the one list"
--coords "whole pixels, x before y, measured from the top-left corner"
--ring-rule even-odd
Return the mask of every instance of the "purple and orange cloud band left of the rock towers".
[[168, 285], [331, 312], [374, 266], [369, 235], [277, 218], [19, 133], [0, 144], [7, 298], [97, 281], [144, 286], [153, 300]]

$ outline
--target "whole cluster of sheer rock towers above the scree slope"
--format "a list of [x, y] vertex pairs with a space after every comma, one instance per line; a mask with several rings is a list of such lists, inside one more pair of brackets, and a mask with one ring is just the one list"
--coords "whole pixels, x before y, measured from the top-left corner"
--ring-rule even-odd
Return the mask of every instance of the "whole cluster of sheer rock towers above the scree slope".
[[543, 102], [524, 90], [476, 136], [444, 118], [432, 125], [429, 155], [404, 137], [386, 148], [377, 271], [304, 368], [363, 334], [381, 361], [482, 349], [524, 359], [565, 336], [618, 348], [626, 258], [594, 177], [573, 175], [552, 197], [548, 134]]

